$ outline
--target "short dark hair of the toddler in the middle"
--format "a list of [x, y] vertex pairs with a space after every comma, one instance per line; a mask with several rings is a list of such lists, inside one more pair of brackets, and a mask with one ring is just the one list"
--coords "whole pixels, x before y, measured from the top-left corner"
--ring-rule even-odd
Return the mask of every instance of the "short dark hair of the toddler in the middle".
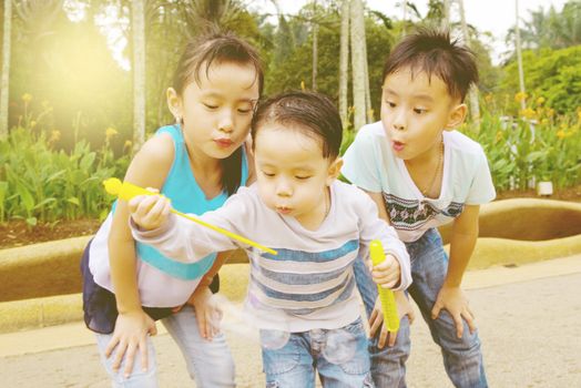
[[306, 135], [320, 140], [324, 157], [335, 159], [339, 155], [343, 139], [339, 112], [324, 94], [290, 91], [262, 102], [252, 121], [253, 140], [256, 141], [261, 127], [273, 123], [294, 125]]

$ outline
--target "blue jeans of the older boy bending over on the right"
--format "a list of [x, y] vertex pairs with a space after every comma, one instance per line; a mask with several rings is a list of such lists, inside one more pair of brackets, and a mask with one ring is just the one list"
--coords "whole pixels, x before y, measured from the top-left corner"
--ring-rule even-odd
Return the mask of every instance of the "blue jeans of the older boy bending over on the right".
[[[431, 338], [441, 348], [444, 366], [456, 387], [488, 387], [480, 350], [478, 334], [470, 334], [463, 321], [462, 338], [456, 336], [456, 326], [449, 313], [441, 310], [437, 319], [431, 319], [431, 308], [444, 285], [448, 270], [448, 256], [437, 229], [429, 229], [418, 241], [406, 243], [411, 259], [409, 295], [419, 307], [428, 324]], [[356, 261], [355, 278], [361, 294], [365, 309], [369, 315], [377, 297], [377, 287], [363, 261]], [[377, 348], [378, 336], [369, 344], [371, 375], [378, 387], [406, 387], [406, 360], [409, 357], [409, 321], [401, 319], [394, 347]]]

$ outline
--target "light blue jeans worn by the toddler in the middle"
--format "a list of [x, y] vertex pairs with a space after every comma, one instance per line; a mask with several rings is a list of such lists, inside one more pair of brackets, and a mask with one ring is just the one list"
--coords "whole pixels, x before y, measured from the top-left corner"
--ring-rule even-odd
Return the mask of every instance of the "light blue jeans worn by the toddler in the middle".
[[[353, 357], [349, 355], [342, 360], [329, 361], [325, 351], [327, 339], [339, 330], [348, 333], [346, 345], [354, 354]], [[261, 335], [267, 335], [266, 331], [262, 330]], [[340, 329], [290, 333], [282, 348], [268, 349], [263, 346], [262, 349], [267, 388], [315, 388], [315, 370], [325, 388], [375, 387], [369, 371], [367, 337], [360, 318]]]

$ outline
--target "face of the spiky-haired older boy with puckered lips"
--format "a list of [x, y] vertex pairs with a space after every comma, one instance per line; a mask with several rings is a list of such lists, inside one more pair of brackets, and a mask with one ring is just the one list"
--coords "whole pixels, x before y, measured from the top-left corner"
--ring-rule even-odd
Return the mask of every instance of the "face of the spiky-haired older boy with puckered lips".
[[381, 95], [381, 123], [389, 145], [405, 161], [439, 153], [441, 133], [463, 121], [466, 105], [452, 98], [444, 81], [425, 72], [401, 69], [386, 76]]

